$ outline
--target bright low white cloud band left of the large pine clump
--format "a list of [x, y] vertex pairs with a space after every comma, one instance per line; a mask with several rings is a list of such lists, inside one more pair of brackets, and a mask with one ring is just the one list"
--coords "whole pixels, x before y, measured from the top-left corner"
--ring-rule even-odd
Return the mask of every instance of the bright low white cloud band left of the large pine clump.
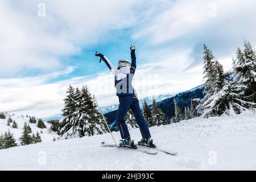
[[62, 88], [64, 85], [46, 82], [57, 76], [67, 75], [73, 69], [68, 67], [64, 71], [38, 77], [1, 78], [0, 110], [23, 112], [33, 110], [32, 112], [40, 115], [45, 112], [44, 110], [60, 108], [63, 105], [61, 96], [64, 95], [65, 88]]

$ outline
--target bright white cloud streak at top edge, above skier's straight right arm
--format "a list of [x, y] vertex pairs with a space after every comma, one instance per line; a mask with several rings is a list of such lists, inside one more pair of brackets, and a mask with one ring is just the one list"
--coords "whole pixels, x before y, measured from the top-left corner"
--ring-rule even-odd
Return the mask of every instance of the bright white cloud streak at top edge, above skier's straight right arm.
[[205, 4], [202, 1], [177, 1], [170, 9], [148, 19], [141, 30], [134, 32], [133, 38], [146, 37], [151, 44], [160, 44], [193, 32], [207, 20]]

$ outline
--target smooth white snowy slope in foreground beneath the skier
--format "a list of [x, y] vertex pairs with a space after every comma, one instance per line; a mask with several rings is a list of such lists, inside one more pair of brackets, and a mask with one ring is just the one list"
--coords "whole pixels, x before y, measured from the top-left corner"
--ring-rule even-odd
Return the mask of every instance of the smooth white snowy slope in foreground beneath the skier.
[[[104, 134], [0, 150], [0, 170], [256, 169], [255, 110], [152, 127], [151, 134], [158, 146], [179, 154], [152, 156], [103, 148], [101, 141], [113, 143], [110, 135]], [[131, 136], [139, 140], [139, 129], [131, 130]], [[118, 140], [119, 133], [114, 133], [114, 137]], [[42, 159], [46, 159], [45, 164]]]

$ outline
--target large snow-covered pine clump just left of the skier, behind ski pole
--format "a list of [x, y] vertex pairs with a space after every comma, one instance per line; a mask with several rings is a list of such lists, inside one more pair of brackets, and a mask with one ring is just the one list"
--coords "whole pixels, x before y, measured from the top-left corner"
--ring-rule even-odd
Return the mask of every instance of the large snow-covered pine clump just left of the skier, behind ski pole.
[[68, 96], [64, 100], [65, 118], [61, 122], [61, 135], [65, 138], [73, 138], [108, 132], [87, 86], [82, 86], [81, 91], [79, 88], [74, 91], [70, 86], [67, 93]]

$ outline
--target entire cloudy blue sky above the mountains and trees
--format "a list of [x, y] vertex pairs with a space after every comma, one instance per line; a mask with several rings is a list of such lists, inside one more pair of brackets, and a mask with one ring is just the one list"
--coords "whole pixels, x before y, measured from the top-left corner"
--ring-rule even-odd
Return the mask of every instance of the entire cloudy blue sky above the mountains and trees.
[[228, 70], [244, 40], [256, 44], [253, 0], [1, 0], [0, 111], [61, 112], [69, 85], [88, 85], [101, 106], [117, 104], [115, 66], [136, 47], [138, 97], [202, 84], [203, 45]]

